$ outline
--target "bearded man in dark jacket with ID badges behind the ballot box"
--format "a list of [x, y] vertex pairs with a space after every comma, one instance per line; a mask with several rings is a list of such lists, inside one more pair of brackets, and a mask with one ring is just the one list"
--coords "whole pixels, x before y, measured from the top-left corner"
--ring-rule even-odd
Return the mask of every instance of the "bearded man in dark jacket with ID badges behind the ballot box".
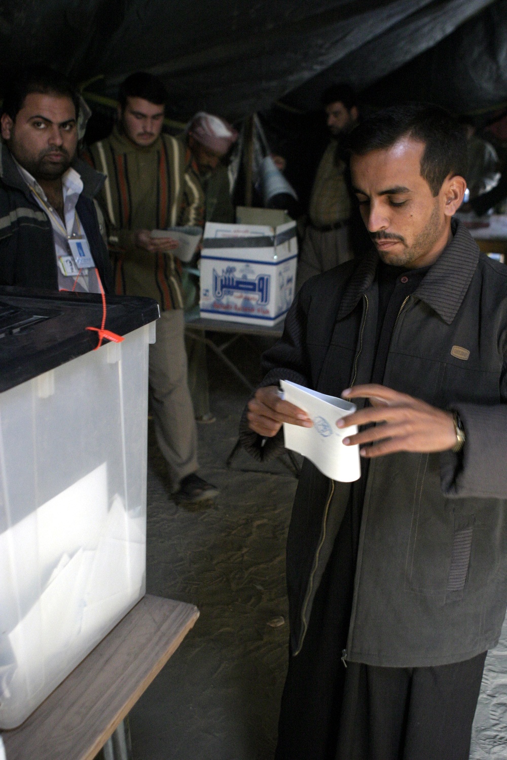
[[79, 99], [48, 68], [11, 81], [2, 106], [0, 284], [100, 293], [109, 256], [93, 198], [103, 175], [76, 159]]

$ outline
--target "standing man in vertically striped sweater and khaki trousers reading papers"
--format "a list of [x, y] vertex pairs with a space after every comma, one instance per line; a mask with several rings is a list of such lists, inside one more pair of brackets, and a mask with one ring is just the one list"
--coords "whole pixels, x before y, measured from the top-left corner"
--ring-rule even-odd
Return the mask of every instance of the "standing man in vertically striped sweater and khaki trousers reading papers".
[[204, 194], [186, 172], [185, 150], [162, 134], [167, 93], [151, 74], [132, 74], [120, 87], [119, 123], [90, 148], [106, 175], [98, 201], [108, 226], [116, 293], [160, 304], [157, 342], [150, 347], [151, 410], [176, 503], [217, 496], [195, 473], [197, 430], [187, 382], [183, 299], [177, 242], [151, 230], [201, 225]]

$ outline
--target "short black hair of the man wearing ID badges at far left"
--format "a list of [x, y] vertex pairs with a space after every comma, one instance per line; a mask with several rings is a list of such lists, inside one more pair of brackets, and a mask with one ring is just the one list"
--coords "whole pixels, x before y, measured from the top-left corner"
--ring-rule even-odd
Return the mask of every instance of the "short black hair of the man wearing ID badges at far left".
[[8, 82], [4, 92], [2, 113], [7, 113], [13, 121], [23, 108], [24, 101], [30, 93], [68, 97], [79, 116], [79, 95], [64, 74], [49, 66], [30, 66], [18, 71]]

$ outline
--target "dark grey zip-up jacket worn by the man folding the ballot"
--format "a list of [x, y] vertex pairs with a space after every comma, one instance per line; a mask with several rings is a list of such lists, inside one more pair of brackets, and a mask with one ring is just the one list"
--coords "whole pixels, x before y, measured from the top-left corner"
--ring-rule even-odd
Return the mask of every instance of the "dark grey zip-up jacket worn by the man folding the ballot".
[[[303, 285], [284, 336], [265, 354], [262, 385], [287, 378], [339, 396], [354, 383], [369, 382], [377, 262], [370, 252]], [[401, 309], [384, 384], [458, 410], [467, 440], [461, 454], [399, 453], [370, 461], [350, 660], [436, 666], [496, 645], [507, 604], [506, 357], [507, 268], [480, 254], [458, 225]], [[278, 435], [261, 448], [246, 416], [241, 436], [258, 458], [283, 445]], [[293, 654], [301, 648], [349, 495], [350, 484], [334, 483], [304, 462], [287, 539]]]

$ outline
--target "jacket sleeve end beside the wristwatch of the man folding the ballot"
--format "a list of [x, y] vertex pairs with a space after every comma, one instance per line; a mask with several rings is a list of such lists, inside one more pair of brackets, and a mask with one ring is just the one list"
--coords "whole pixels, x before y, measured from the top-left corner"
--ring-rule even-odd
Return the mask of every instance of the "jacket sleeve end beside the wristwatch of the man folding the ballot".
[[440, 455], [442, 491], [450, 498], [507, 498], [507, 404], [453, 404], [466, 436], [463, 449]]

